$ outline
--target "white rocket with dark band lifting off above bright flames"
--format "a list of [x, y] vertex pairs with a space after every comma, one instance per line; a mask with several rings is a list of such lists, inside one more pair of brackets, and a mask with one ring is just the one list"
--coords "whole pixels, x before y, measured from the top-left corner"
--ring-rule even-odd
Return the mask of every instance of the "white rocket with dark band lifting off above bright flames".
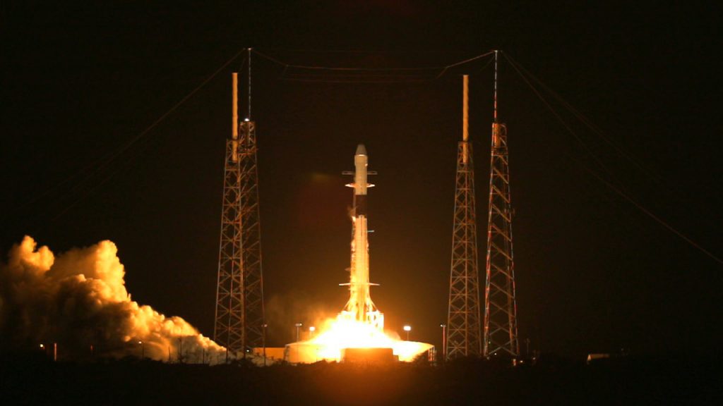
[[[372, 324], [378, 329], [384, 328], [384, 316], [377, 310], [369, 293], [369, 229], [367, 226], [367, 189], [374, 186], [367, 182], [369, 156], [364, 144], [356, 147], [354, 154], [354, 183], [348, 187], [354, 189], [351, 220], [353, 222], [351, 239], [351, 267], [349, 268], [349, 300], [342, 315], [346, 319], [354, 319], [364, 324]], [[346, 285], [346, 284], [343, 284]]]

